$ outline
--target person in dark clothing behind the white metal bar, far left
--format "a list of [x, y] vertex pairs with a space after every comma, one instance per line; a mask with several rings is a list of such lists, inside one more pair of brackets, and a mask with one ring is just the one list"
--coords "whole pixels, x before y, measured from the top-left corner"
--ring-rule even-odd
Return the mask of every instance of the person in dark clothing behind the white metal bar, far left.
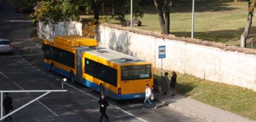
[[[3, 106], [4, 106], [4, 109], [5, 109], [5, 116], [7, 114], [9, 114], [12, 104], [13, 104], [13, 99], [11, 97], [9, 97], [9, 93], [6, 92], [5, 93], [5, 98], [4, 98], [4, 101], [3, 101]], [[7, 118], [10, 119], [10, 122], [13, 121], [13, 117], [11, 117], [11, 116], [7, 116], [4, 121], [7, 121]]]

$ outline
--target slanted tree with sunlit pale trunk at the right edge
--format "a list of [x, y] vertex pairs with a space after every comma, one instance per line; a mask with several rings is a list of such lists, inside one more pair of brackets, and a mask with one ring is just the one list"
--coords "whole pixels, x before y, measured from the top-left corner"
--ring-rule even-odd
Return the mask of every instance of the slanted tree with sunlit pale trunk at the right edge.
[[241, 35], [241, 47], [246, 47], [246, 39], [248, 37], [251, 25], [252, 25], [252, 17], [253, 17], [253, 11], [255, 8], [255, 0], [248, 0], [248, 17], [247, 17], [247, 24], [246, 28], [243, 31], [243, 34]]

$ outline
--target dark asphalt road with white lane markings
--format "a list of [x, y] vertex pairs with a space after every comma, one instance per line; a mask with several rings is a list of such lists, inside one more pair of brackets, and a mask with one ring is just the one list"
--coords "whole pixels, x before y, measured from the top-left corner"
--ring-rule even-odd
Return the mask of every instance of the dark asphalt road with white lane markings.
[[[16, 14], [14, 5], [9, 0], [3, 0], [0, 9], [0, 38], [10, 38], [18, 28], [32, 26], [27, 16]], [[14, 47], [12, 55], [0, 53], [1, 91], [61, 90], [63, 78], [44, 68], [42, 56], [21, 47]], [[11, 115], [13, 121], [99, 121], [98, 92], [79, 83], [72, 84], [69, 79], [63, 83], [63, 90], [68, 92], [51, 92], [18, 110]], [[9, 96], [13, 98], [14, 109], [17, 109], [44, 93], [10, 93]], [[110, 106], [106, 114], [109, 121], [201, 121], [156, 101], [157, 109], [150, 105], [148, 109], [142, 109], [144, 99], [108, 99]]]

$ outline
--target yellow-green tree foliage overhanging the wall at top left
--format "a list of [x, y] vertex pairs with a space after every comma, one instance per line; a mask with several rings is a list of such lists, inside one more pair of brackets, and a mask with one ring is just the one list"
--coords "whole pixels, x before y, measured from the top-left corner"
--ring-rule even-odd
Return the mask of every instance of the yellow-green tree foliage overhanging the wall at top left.
[[79, 7], [89, 5], [90, 3], [85, 0], [38, 1], [35, 12], [28, 17], [36, 18], [39, 21], [45, 21], [45, 24], [48, 24], [49, 20], [54, 23], [59, 23], [64, 19], [79, 21]]

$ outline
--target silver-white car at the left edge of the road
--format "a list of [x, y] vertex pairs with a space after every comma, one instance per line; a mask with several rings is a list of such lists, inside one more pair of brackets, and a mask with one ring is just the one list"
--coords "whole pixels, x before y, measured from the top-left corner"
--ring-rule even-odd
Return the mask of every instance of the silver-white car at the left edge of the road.
[[13, 46], [10, 44], [9, 39], [0, 39], [0, 52], [8, 52], [13, 54]]

